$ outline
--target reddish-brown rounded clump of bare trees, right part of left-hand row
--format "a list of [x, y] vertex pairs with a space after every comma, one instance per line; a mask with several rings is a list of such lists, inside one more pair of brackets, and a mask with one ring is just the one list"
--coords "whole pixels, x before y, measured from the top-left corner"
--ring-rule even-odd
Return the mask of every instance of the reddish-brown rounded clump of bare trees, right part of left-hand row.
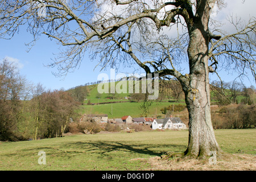
[[33, 138], [61, 137], [70, 118], [75, 114], [78, 102], [68, 92], [46, 91], [31, 100], [34, 118]]

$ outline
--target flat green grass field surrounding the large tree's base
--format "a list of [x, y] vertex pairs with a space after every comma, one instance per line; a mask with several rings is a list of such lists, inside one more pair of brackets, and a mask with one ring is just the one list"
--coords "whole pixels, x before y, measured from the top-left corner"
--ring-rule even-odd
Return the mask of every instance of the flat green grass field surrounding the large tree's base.
[[[222, 150], [256, 154], [256, 130], [215, 130]], [[144, 131], [72, 135], [63, 138], [0, 142], [0, 170], [145, 170], [161, 152], [183, 152], [188, 131]], [[46, 152], [46, 165], [38, 152]]]

